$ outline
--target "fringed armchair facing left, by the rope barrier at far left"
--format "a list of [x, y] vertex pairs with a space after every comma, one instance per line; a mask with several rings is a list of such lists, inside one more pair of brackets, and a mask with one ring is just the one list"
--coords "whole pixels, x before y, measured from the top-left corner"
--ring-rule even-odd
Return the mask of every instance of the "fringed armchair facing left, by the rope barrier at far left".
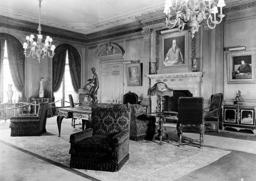
[[11, 117], [11, 136], [40, 136], [45, 133], [48, 107], [49, 102], [42, 102], [37, 114], [20, 114]]

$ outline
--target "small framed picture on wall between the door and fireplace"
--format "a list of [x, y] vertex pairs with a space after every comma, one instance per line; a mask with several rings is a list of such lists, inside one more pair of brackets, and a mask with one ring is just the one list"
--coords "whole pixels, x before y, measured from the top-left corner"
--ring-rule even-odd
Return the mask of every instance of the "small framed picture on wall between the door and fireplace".
[[142, 86], [140, 63], [126, 65], [127, 86]]

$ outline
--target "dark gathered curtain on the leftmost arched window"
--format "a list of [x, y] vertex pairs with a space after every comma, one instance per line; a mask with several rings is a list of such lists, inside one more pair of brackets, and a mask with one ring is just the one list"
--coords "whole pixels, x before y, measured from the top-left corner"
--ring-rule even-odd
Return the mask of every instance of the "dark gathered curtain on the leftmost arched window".
[[[12, 35], [0, 33], [0, 38], [6, 40], [9, 66], [14, 86], [25, 95], [25, 55], [22, 43]], [[2, 42], [1, 42], [2, 49]], [[2, 50], [1, 50], [2, 55]], [[1, 61], [2, 66], [2, 61]]]

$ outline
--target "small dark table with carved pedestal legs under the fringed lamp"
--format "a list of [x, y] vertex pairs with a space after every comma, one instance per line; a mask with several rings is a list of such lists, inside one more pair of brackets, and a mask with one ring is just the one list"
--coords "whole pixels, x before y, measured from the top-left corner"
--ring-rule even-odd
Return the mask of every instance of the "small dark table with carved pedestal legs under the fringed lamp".
[[157, 133], [155, 133], [152, 141], [153, 142], [155, 141], [156, 136], [160, 137], [160, 145], [163, 145], [162, 138], [163, 138], [164, 135], [166, 135], [167, 141], [170, 142], [170, 140], [168, 139], [168, 135], [164, 132], [166, 130], [166, 128], [163, 126], [163, 124], [165, 123], [165, 118], [166, 117], [177, 116], [178, 113], [168, 111], [168, 112], [148, 113], [147, 115], [159, 118], [158, 121], [157, 121], [157, 123], [158, 123]]

